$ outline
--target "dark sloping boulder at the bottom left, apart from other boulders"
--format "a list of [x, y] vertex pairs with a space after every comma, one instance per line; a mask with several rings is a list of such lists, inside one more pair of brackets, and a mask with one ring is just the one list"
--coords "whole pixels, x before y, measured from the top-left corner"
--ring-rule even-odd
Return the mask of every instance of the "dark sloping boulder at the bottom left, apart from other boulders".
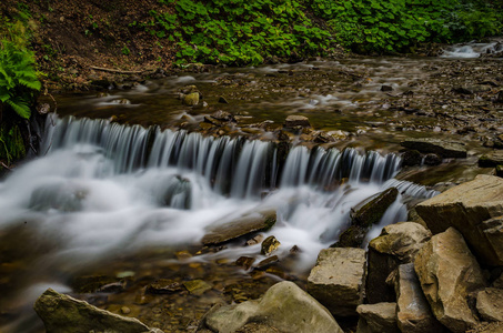
[[98, 309], [48, 289], [34, 303], [48, 333], [145, 333], [162, 332], [149, 329], [137, 319]]

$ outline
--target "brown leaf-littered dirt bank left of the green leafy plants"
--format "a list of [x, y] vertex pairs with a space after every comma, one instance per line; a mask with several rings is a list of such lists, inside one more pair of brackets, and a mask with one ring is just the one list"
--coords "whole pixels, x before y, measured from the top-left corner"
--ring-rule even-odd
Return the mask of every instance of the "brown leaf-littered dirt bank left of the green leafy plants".
[[43, 81], [49, 90], [85, 89], [91, 81], [117, 82], [169, 71], [175, 46], [138, 24], [151, 20], [151, 10], [171, 9], [161, 7], [157, 0], [0, 3], [2, 19], [28, 18], [37, 62], [40, 71], [48, 74]]

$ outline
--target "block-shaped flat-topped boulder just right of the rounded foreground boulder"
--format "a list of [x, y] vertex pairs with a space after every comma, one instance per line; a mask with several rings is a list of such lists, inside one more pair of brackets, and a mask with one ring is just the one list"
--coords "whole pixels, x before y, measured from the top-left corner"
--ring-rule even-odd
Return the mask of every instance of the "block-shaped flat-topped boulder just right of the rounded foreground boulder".
[[334, 316], [356, 315], [363, 300], [365, 250], [321, 250], [308, 278], [308, 292]]

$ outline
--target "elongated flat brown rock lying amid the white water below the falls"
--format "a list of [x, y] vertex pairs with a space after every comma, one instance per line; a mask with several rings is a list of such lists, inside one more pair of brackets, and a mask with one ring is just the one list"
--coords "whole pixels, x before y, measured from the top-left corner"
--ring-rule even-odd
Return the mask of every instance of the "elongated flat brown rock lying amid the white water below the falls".
[[244, 216], [212, 226], [202, 238], [202, 243], [204, 245], [220, 244], [255, 231], [268, 230], [274, 225], [275, 221], [276, 212], [274, 210], [248, 213]]

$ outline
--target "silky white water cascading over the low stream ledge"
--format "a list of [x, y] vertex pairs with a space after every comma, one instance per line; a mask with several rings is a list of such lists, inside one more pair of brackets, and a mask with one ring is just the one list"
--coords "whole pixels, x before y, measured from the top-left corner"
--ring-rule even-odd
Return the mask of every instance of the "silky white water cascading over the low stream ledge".
[[[295, 147], [282, 157], [273, 142], [71, 117], [54, 122], [42, 144], [48, 153], [0, 183], [0, 232], [26, 224], [37, 242], [57, 244], [38, 253], [16, 304], [31, 306], [38, 294], [30, 287], [60, 285], [79, 266], [145, 246], [195, 244], [209, 225], [263, 206], [278, 213], [265, 235], [282, 243], [280, 255], [298, 245], [296, 268], [308, 270], [365, 198], [390, 186], [433, 195], [392, 180], [400, 164], [394, 154]], [[399, 198], [376, 232], [405, 219]], [[258, 255], [256, 246], [217, 255]]]

